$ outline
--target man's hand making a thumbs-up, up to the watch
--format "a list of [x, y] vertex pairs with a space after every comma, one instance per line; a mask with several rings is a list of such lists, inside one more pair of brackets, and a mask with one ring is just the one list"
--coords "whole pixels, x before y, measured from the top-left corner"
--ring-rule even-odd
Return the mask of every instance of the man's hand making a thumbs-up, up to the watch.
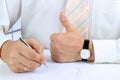
[[51, 58], [56, 62], [73, 62], [81, 60], [80, 51], [84, 38], [72, 25], [64, 13], [60, 15], [60, 21], [66, 29], [65, 33], [54, 33], [51, 39]]

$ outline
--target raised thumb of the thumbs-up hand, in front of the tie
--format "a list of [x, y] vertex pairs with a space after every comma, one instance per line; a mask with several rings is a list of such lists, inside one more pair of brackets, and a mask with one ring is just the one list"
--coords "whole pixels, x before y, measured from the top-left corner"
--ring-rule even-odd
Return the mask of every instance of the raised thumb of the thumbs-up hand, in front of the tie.
[[61, 12], [60, 14], [60, 21], [62, 25], [64, 26], [66, 32], [72, 32], [76, 30], [76, 28], [68, 21], [68, 19], [66, 18], [63, 12]]

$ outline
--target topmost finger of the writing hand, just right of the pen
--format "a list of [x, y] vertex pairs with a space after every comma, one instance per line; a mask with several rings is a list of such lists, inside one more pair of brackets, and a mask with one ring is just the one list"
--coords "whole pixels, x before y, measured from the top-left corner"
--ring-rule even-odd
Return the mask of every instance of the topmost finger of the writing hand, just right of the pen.
[[26, 39], [27, 43], [38, 53], [43, 53], [44, 46], [35, 39]]

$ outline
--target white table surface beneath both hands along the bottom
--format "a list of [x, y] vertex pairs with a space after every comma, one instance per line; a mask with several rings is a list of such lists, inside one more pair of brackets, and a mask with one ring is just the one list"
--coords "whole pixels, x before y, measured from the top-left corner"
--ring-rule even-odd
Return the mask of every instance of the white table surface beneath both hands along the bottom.
[[13, 73], [0, 61], [0, 80], [120, 80], [120, 64], [55, 63], [45, 51], [47, 66], [33, 72]]

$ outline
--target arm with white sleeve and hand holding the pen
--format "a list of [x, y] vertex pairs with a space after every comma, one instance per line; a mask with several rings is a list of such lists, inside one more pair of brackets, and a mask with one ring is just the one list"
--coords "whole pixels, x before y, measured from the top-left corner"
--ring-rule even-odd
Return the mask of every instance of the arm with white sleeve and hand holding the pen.
[[[20, 40], [8, 40], [5, 36], [9, 28], [20, 17], [21, 0], [0, 0], [0, 49], [1, 58], [13, 72], [29, 72], [45, 62], [44, 47], [34, 39], [26, 39], [27, 47]], [[6, 1], [6, 2], [5, 2]], [[9, 4], [11, 3], [11, 4]], [[40, 54], [41, 53], [41, 54]]]

